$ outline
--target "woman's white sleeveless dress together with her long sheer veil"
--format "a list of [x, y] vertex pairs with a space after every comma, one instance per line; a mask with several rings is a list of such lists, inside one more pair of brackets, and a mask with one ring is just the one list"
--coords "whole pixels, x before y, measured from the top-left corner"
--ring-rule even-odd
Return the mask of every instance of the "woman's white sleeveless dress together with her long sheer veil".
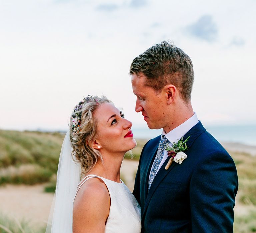
[[[46, 233], [72, 233], [75, 195], [79, 187], [93, 177], [103, 180], [111, 198], [105, 233], [140, 233], [140, 206], [127, 186], [123, 182], [117, 183], [96, 175], [86, 176], [80, 181], [81, 166], [73, 160], [72, 151], [67, 132], [60, 152], [56, 191]], [[86, 226], [84, 227], [86, 229]]]

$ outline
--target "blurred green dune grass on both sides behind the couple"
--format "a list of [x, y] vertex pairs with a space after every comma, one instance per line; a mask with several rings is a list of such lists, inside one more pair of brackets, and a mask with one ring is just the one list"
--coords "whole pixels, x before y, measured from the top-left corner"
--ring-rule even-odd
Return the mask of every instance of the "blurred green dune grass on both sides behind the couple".
[[[45, 192], [54, 192], [59, 154], [65, 133], [0, 130], [0, 185], [42, 183]], [[138, 160], [146, 139], [139, 139], [132, 150]], [[239, 177], [234, 232], [256, 232], [256, 158], [249, 153], [228, 150], [233, 157]], [[130, 153], [125, 155], [130, 159]], [[134, 174], [135, 176], [135, 174]], [[125, 174], [121, 174], [125, 181]], [[1, 211], [1, 210], [0, 210]], [[0, 233], [44, 232], [29, 222], [0, 215]]]

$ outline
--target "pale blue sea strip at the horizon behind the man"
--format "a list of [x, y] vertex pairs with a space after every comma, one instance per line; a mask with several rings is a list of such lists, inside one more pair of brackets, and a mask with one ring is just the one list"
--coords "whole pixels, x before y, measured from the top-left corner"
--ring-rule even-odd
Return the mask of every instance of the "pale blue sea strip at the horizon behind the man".
[[[220, 142], [234, 142], [256, 146], [256, 125], [204, 125], [206, 130]], [[154, 138], [162, 129], [132, 127], [134, 138]]]

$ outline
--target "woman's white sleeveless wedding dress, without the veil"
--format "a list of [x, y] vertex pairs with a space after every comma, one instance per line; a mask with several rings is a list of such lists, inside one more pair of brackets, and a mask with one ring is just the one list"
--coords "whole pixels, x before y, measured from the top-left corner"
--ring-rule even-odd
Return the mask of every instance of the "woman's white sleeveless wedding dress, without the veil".
[[79, 183], [77, 192], [84, 182], [94, 177], [100, 178], [106, 184], [111, 199], [105, 233], [140, 233], [140, 205], [122, 180], [118, 183], [97, 175], [87, 175]]

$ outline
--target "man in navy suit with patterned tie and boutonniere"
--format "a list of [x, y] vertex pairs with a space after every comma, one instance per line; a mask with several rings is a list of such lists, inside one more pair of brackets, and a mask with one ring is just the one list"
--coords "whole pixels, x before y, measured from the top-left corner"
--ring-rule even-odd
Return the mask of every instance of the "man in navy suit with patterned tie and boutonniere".
[[[163, 128], [162, 135], [145, 144], [135, 178], [142, 232], [233, 232], [237, 171], [193, 112], [190, 58], [162, 42], [133, 60], [130, 75], [135, 111], [150, 129]], [[175, 158], [179, 149], [167, 152], [166, 145], [187, 138], [185, 155]]]

